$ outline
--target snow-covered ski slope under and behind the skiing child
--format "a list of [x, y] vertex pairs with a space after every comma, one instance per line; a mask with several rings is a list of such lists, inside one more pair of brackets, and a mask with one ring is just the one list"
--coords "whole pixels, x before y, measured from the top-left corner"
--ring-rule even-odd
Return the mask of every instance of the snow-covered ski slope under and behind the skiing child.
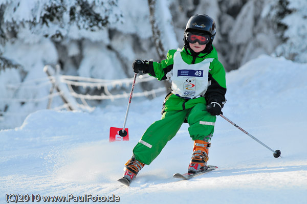
[[306, 78], [307, 64], [269, 56], [228, 73], [224, 115], [282, 157], [218, 117], [209, 164], [219, 168], [188, 181], [172, 178], [187, 170], [192, 153], [183, 124], [129, 188], [117, 182], [142, 133], [160, 119], [163, 97], [132, 101], [126, 142], [108, 142], [109, 128], [122, 127], [125, 105], [91, 114], [37, 111], [21, 127], [0, 131], [0, 202], [6, 194], [114, 194], [120, 203], [306, 203]]

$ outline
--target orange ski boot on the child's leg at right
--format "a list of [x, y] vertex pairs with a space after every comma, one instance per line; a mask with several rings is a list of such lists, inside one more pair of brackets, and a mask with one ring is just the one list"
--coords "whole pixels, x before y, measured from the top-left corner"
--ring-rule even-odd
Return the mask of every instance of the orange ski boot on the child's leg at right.
[[208, 152], [210, 146], [210, 143], [202, 140], [194, 141], [193, 154], [188, 169], [189, 173], [198, 173], [207, 169], [207, 162], [209, 160]]

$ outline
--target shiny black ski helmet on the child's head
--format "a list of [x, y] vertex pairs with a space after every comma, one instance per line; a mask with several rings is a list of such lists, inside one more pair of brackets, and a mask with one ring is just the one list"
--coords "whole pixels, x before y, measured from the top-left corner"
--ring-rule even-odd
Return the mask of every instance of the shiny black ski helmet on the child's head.
[[184, 30], [184, 45], [186, 48], [190, 48], [189, 42], [186, 39], [187, 32], [209, 34], [210, 42], [207, 44], [205, 53], [211, 51], [212, 42], [216, 34], [216, 25], [213, 18], [206, 14], [196, 14], [190, 17]]

